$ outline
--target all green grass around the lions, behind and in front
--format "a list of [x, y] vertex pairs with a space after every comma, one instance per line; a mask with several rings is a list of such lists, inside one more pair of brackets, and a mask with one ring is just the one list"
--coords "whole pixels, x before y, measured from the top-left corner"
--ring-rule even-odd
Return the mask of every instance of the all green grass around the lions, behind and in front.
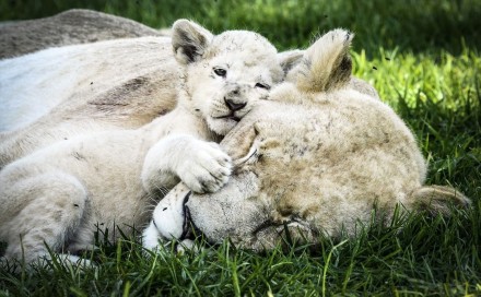
[[83, 2], [2, 1], [0, 20], [89, 7], [152, 26], [191, 17], [214, 32], [256, 29], [281, 49], [306, 46], [332, 27], [354, 31], [354, 72], [418, 136], [430, 161], [427, 182], [455, 186], [473, 205], [447, 218], [412, 214], [389, 227], [373, 222], [355, 238], [261, 254], [226, 241], [200, 254], [167, 247], [149, 259], [137, 240], [125, 239], [85, 254], [96, 269], [2, 268], [0, 296], [481, 295], [481, 1]]

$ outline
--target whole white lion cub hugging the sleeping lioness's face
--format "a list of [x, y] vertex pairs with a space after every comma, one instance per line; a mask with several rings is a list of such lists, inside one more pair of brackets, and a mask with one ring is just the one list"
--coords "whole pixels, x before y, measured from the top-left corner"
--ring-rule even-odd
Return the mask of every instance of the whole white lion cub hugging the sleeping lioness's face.
[[215, 191], [227, 181], [231, 158], [207, 141], [219, 141], [267, 98], [293, 59], [279, 56], [256, 33], [214, 36], [187, 20], [174, 24], [172, 45], [185, 67], [173, 111], [137, 130], [58, 142], [0, 173], [7, 259], [32, 262], [47, 256], [45, 243], [56, 252], [89, 248], [97, 224], [110, 229], [113, 240], [115, 225], [146, 223], [152, 198], [179, 180], [196, 192]]

